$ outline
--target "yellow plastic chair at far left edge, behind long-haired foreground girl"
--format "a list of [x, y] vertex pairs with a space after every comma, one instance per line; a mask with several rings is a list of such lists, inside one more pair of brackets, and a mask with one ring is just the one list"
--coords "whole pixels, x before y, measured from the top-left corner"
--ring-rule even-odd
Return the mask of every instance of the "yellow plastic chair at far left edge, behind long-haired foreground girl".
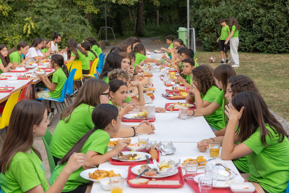
[[[12, 113], [12, 109], [18, 102], [18, 97], [19, 97], [20, 92], [21, 90], [11, 94], [11, 96], [7, 100], [7, 103], [5, 104], [5, 107], [2, 113], [2, 117], [0, 117], [0, 129], [3, 129], [4, 127], [7, 127], [9, 125], [9, 119]], [[0, 139], [1, 139], [1, 142], [3, 143], [1, 136], [0, 136]]]

